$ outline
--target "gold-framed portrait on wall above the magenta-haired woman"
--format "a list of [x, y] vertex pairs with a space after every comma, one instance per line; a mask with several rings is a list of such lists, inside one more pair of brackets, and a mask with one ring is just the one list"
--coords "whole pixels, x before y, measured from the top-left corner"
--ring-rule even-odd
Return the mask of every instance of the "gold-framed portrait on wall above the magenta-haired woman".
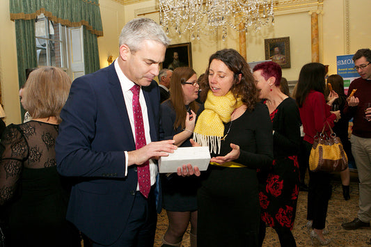
[[290, 37], [268, 38], [265, 43], [265, 59], [274, 61], [282, 68], [291, 67]]

